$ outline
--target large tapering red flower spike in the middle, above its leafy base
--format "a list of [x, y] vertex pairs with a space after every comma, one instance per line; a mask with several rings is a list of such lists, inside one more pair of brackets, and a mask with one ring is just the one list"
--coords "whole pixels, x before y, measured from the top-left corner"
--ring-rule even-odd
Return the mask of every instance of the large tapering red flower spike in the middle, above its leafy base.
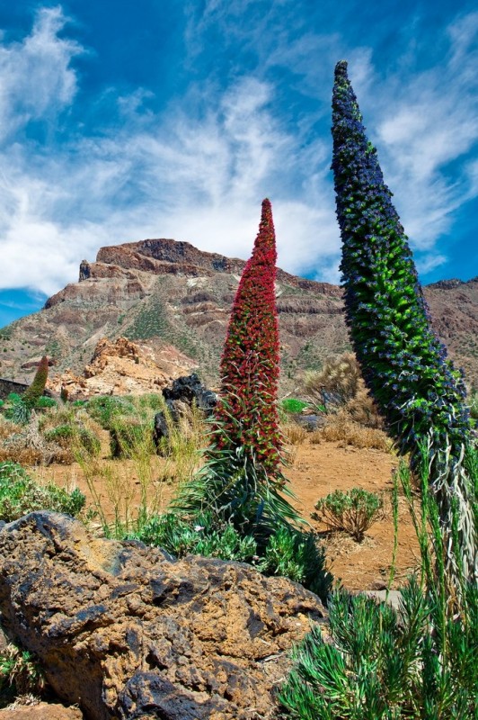
[[216, 446], [243, 447], [270, 477], [278, 472], [281, 448], [276, 260], [272, 208], [266, 199], [252, 257], [235, 295], [221, 358]]

